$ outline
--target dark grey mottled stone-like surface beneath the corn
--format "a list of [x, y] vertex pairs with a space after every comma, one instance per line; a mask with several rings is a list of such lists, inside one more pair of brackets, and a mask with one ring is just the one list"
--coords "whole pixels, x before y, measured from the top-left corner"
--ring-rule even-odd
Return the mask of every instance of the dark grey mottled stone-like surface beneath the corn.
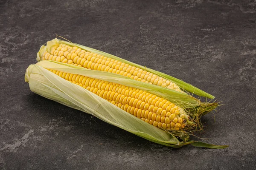
[[[33, 94], [55, 34], [213, 94], [200, 137], [230, 147], [172, 149]], [[0, 0], [0, 40], [0, 169], [256, 169], [255, 0]]]

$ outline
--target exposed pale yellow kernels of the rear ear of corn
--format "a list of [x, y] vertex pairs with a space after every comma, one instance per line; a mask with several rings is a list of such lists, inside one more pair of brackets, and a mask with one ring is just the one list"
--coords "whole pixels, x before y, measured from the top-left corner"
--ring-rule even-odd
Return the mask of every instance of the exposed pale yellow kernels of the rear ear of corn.
[[52, 47], [50, 51], [45, 51], [40, 57], [41, 60], [53, 60], [87, 69], [120, 74], [141, 82], [158, 85], [184, 93], [177, 85], [163, 77], [159, 77], [148, 71], [110, 57], [82, 50], [76, 46], [71, 47], [65, 44], [58, 44], [58, 47]]

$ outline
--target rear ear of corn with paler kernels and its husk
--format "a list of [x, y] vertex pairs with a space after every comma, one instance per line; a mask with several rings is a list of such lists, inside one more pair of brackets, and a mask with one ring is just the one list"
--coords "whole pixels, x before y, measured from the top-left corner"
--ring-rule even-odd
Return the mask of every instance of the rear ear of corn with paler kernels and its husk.
[[210, 99], [214, 98], [214, 96], [167, 74], [145, 68], [141, 65], [93, 48], [63, 40], [54, 39], [47, 42], [46, 46], [41, 46], [37, 55], [37, 60], [41, 61], [45, 59], [87, 69], [111, 72], [181, 93], [184, 93], [182, 91], [182, 89], [184, 89], [185, 91], [192, 92], [199, 96], [208, 97]]

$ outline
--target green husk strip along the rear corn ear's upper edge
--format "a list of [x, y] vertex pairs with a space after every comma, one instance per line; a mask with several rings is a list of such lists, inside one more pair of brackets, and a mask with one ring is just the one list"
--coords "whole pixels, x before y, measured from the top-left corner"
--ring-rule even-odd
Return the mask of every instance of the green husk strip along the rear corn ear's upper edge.
[[105, 57], [111, 57], [113, 59], [117, 59], [121, 62], [125, 62], [125, 63], [128, 63], [129, 65], [132, 65], [132, 66], [136, 66], [138, 68], [141, 68], [141, 69], [144, 69], [146, 71], [149, 71], [153, 74], [156, 74], [160, 77], [163, 77], [165, 79], [168, 79], [169, 81], [171, 82], [174, 82], [175, 84], [177, 84], [181, 89], [184, 89], [185, 91], [188, 91], [188, 92], [191, 92], [192, 94], [196, 94], [198, 96], [204, 96], [204, 97], [207, 97], [209, 99], [214, 99], [215, 97], [212, 96], [211, 94], [208, 94], [206, 93], [205, 91], [202, 91], [201, 89], [199, 88], [196, 88], [195, 86], [189, 84], [189, 83], [186, 83], [186, 82], [183, 82], [182, 80], [180, 79], [177, 79], [175, 77], [172, 77], [172, 76], [169, 76], [167, 74], [164, 74], [164, 73], [161, 73], [159, 71], [155, 71], [153, 69], [150, 69], [150, 68], [146, 68], [145, 66], [142, 66], [142, 65], [138, 65], [136, 63], [133, 63], [133, 62], [130, 62], [128, 60], [125, 60], [125, 59], [122, 59], [122, 58], [119, 58], [119, 57], [116, 57], [112, 54], [108, 54], [108, 53], [105, 53], [103, 51], [99, 51], [99, 50], [96, 50], [96, 49], [93, 49], [93, 48], [90, 48], [90, 47], [86, 47], [86, 46], [83, 46], [83, 45], [79, 45], [79, 44], [76, 44], [76, 43], [72, 43], [72, 42], [67, 42], [67, 41], [64, 41], [64, 40], [58, 40], [57, 38], [55, 38], [54, 40], [52, 41], [48, 41], [47, 42], [47, 46], [44, 46], [42, 45], [40, 51], [38, 52], [38, 57], [37, 57], [37, 60], [40, 61], [40, 57], [39, 57], [39, 53], [40, 52], [43, 52], [45, 50], [47, 50], [48, 52], [50, 51], [51, 47], [54, 46], [54, 45], [57, 45], [58, 43], [62, 43], [62, 44], [66, 44], [66, 45], [70, 45], [70, 46], [77, 46], [81, 49], [84, 49], [86, 51], [90, 51], [90, 52], [93, 52], [93, 53], [97, 53], [97, 54], [100, 54], [100, 55], [103, 55]]

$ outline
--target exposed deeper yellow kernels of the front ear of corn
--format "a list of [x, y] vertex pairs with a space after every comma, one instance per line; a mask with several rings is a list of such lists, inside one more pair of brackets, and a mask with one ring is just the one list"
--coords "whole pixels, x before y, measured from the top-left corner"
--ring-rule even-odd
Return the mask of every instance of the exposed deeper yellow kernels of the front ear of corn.
[[189, 118], [183, 109], [147, 91], [78, 74], [48, 70], [156, 127], [167, 130], [183, 129]]

